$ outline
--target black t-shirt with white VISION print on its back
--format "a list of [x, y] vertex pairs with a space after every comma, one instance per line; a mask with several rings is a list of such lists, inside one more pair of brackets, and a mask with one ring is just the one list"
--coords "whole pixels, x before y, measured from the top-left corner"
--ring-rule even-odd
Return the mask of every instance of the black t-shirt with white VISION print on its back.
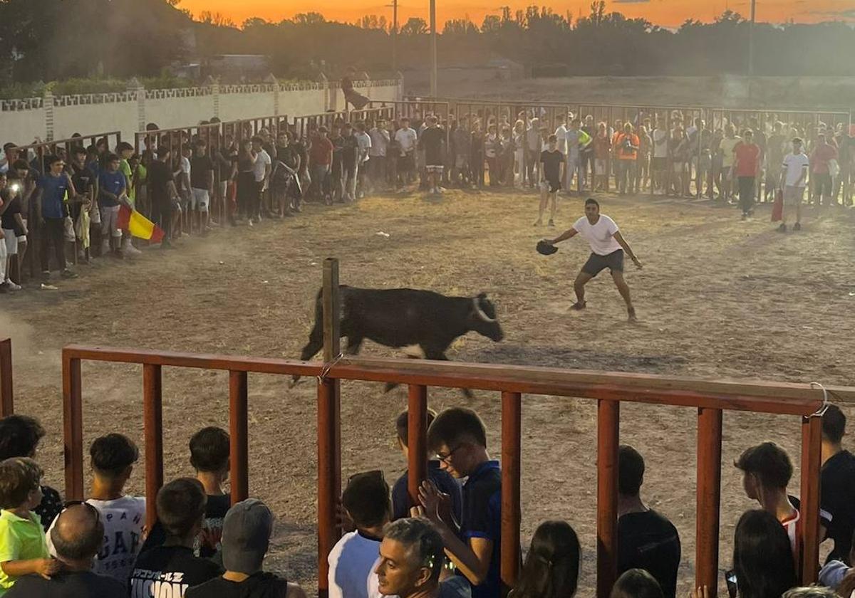
[[[187, 588], [214, 579], [221, 572], [210, 560], [195, 556], [192, 548], [159, 546], [139, 554], [133, 563], [131, 595], [181, 596]], [[155, 586], [157, 593], [152, 592]]]

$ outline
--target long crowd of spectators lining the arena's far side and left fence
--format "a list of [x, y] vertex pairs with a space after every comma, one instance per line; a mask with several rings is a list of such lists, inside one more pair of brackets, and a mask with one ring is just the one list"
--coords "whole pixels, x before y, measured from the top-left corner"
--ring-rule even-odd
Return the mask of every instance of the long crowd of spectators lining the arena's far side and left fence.
[[311, 120], [299, 130], [282, 121], [227, 128], [211, 119], [160, 132], [150, 123], [139, 149], [110, 147], [108, 138], [86, 145], [79, 135], [80, 144], [47, 153], [5, 144], [0, 293], [21, 290], [33, 219], [43, 284], [52, 269], [77, 276], [67, 242], [78, 262], [139, 255], [120, 226], [123, 205], [159, 226], [160, 247], [171, 249], [189, 232], [256, 226], [299, 214], [304, 202], [354, 202], [414, 185], [429, 194], [448, 186], [540, 189], [538, 225], [550, 201], [554, 214], [559, 190], [705, 196], [739, 204], [748, 218], [755, 202], [781, 189], [781, 232], [793, 212], [799, 230], [805, 191], [817, 206], [852, 205], [855, 191], [855, 138], [842, 123], [784, 124], [776, 114], [707, 122], [678, 110], [614, 122], [591, 114], [547, 119], [542, 109], [522, 110], [513, 122], [510, 112], [483, 110], [459, 118], [354, 114], [363, 120]]

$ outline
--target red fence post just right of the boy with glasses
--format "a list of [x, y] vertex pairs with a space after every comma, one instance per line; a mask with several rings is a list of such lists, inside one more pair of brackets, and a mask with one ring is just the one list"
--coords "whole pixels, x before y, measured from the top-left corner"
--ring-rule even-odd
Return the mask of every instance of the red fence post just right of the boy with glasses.
[[502, 392], [502, 595], [516, 585], [519, 574], [521, 445], [522, 396]]

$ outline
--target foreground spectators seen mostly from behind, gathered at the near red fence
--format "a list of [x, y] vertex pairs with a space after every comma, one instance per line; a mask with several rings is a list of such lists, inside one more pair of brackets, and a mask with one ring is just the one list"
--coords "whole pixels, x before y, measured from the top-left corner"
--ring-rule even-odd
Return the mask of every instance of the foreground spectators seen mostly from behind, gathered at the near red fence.
[[[407, 454], [407, 419], [395, 436]], [[573, 526], [547, 520], [534, 532], [516, 587], [503, 588], [501, 471], [486, 428], [469, 408], [429, 415], [428, 478], [410, 506], [404, 472], [390, 488], [383, 472], [348, 480], [339, 508], [344, 535], [328, 554], [331, 598], [566, 598], [580, 585], [581, 545]], [[740, 516], [729, 594], [740, 598], [851, 598], [855, 550], [855, 456], [842, 448], [846, 418], [823, 414], [821, 536], [833, 542], [817, 586], [797, 588], [799, 501], [787, 494], [793, 466], [775, 443], [746, 448], [735, 461], [746, 497], [759, 508]], [[62, 505], [42, 485], [38, 443], [44, 430], [23, 415], [0, 419], [0, 596], [9, 598], [305, 598], [286, 577], [265, 572], [274, 516], [257, 499], [232, 505], [226, 431], [207, 427], [189, 442], [195, 475], [176, 478], [153, 504], [127, 494], [139, 457], [127, 437], [109, 433], [90, 446], [85, 501]], [[645, 461], [618, 454], [618, 573], [611, 598], [676, 595], [680, 536], [642, 500]], [[654, 489], [653, 492], [656, 492]], [[156, 525], [146, 529], [146, 507]], [[705, 598], [708, 589], [695, 589]]]

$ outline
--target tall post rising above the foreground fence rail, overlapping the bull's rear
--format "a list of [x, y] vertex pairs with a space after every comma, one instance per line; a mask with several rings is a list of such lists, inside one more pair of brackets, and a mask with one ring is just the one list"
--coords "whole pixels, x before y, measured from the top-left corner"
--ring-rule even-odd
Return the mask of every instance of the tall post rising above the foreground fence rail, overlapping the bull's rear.
[[[341, 352], [339, 261], [323, 262], [323, 359], [329, 366]], [[326, 369], [326, 368], [325, 368]], [[341, 413], [338, 379], [318, 378], [318, 597], [327, 598], [327, 554], [340, 536], [336, 504], [341, 495]]]

